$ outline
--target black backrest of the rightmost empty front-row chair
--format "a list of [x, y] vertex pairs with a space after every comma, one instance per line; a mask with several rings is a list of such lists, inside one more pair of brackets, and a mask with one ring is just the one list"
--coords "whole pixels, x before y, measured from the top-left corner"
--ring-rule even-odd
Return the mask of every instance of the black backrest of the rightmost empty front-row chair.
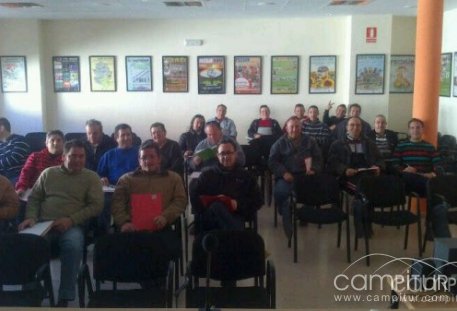
[[[211, 278], [215, 280], [241, 280], [265, 275], [265, 244], [252, 230], [211, 231], [217, 240], [212, 253]], [[197, 237], [192, 248], [192, 275], [206, 277], [207, 253]]]

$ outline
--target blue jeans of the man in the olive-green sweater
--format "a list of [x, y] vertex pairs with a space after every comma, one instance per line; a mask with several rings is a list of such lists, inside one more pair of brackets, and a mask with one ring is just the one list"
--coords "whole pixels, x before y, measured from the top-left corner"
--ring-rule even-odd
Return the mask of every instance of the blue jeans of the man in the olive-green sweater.
[[59, 249], [60, 257], [60, 288], [59, 300], [74, 300], [76, 293], [76, 279], [81, 265], [84, 250], [84, 231], [74, 226], [60, 233], [50, 231], [46, 238], [54, 247]]

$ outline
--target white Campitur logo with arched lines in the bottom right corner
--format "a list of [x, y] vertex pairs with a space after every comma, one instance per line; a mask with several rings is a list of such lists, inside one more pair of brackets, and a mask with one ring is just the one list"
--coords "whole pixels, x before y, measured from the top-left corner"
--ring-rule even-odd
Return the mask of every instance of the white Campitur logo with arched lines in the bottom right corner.
[[[351, 274], [351, 270], [367, 256], [382, 256], [386, 262], [371, 273]], [[404, 270], [399, 274], [384, 273], [389, 265], [404, 264]], [[398, 271], [398, 267], [395, 268]], [[451, 292], [457, 288], [457, 275], [449, 275], [449, 271], [457, 271], [457, 262], [448, 262], [441, 258], [429, 257], [416, 259], [410, 257], [394, 257], [388, 254], [373, 253], [359, 258], [344, 271], [335, 276], [334, 288], [339, 292], [351, 291], [361, 293], [373, 290], [394, 290], [399, 293]], [[454, 272], [455, 273], [455, 272]]]

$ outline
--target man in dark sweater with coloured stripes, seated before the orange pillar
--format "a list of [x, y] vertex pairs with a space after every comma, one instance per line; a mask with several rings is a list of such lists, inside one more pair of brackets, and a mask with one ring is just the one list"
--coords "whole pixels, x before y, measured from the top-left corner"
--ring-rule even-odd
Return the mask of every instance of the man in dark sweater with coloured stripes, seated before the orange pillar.
[[424, 122], [408, 122], [409, 140], [401, 142], [393, 153], [394, 167], [402, 174], [406, 191], [425, 196], [427, 181], [436, 177], [440, 157], [435, 147], [422, 139]]

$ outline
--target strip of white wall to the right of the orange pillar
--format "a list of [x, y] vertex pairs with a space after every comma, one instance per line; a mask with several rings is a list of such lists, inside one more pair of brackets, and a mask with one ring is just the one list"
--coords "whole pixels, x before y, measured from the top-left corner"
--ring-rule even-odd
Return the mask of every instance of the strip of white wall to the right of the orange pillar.
[[[457, 10], [452, 10], [444, 13], [443, 19], [443, 43], [441, 51], [442, 53], [456, 52], [457, 51], [457, 40], [455, 34], [457, 32]], [[453, 63], [455, 64], [454, 55]], [[456, 76], [457, 68], [453, 66], [453, 76]], [[455, 78], [454, 78], [455, 79]], [[454, 81], [454, 88], [455, 83]], [[455, 92], [452, 90], [452, 92]], [[457, 97], [440, 97], [440, 109], [438, 114], [438, 131], [442, 134], [451, 134], [457, 136]]]

